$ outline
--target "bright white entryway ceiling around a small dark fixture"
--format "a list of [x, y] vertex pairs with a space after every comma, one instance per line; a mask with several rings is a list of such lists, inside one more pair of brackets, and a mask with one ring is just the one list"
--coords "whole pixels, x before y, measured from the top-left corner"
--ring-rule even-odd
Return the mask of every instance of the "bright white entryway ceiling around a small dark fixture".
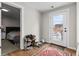
[[26, 2], [24, 4], [43, 12], [43, 11], [53, 9], [51, 8], [51, 6], [54, 6], [54, 8], [57, 8], [71, 3], [72, 2]]

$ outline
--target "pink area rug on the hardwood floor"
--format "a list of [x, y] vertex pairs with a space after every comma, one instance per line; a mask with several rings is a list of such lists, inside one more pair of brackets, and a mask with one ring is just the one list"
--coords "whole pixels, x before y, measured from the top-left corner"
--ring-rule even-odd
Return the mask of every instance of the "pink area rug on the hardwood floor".
[[38, 56], [67, 56], [63, 51], [57, 50], [55, 48], [49, 47], [42, 50]]

